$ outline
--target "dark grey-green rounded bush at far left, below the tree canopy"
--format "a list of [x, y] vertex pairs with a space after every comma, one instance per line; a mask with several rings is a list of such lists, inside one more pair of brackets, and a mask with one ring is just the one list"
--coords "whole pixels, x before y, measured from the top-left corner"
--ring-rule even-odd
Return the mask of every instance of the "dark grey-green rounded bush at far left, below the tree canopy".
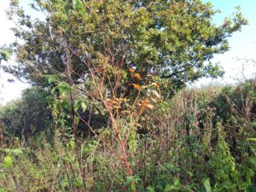
[[49, 93], [38, 88], [24, 90], [21, 99], [1, 107], [0, 121], [6, 137], [18, 137], [25, 143], [40, 132], [52, 133], [53, 119], [47, 96]]

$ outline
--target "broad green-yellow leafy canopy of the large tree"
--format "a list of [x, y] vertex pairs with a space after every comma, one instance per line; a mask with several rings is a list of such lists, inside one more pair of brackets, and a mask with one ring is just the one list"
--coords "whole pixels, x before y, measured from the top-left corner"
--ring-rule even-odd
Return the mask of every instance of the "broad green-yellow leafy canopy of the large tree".
[[218, 11], [201, 0], [37, 0], [32, 9], [44, 13], [40, 20], [11, 2], [17, 65], [6, 70], [32, 84], [44, 84], [49, 74], [67, 81], [67, 59], [74, 82], [86, 81], [84, 63], [101, 69], [106, 60], [108, 67], [151, 73], [177, 87], [218, 77], [223, 72], [213, 55], [227, 51], [228, 38], [247, 23], [238, 9], [216, 26]]

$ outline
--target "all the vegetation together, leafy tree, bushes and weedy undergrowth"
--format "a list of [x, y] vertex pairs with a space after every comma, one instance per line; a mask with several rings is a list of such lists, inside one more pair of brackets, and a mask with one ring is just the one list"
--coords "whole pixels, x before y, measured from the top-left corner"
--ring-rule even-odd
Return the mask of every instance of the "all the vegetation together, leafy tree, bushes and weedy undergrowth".
[[215, 26], [200, 0], [32, 8], [46, 18], [9, 9], [22, 41], [5, 70], [34, 87], [1, 108], [0, 191], [255, 191], [255, 81], [184, 88], [223, 74], [210, 59], [239, 10]]

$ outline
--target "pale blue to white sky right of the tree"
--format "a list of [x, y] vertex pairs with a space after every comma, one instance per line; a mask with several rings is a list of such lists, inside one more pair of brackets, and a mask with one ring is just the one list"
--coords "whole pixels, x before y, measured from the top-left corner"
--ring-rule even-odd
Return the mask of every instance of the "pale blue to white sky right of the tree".
[[[219, 61], [224, 67], [224, 79], [213, 80], [221, 84], [236, 83], [243, 79], [250, 79], [255, 76], [256, 67], [256, 1], [255, 0], [211, 0], [215, 9], [219, 9], [221, 14], [214, 17], [217, 24], [224, 20], [225, 16], [231, 16], [236, 6], [241, 6], [242, 15], [248, 20], [248, 25], [243, 26], [241, 32], [236, 32], [230, 39], [230, 50], [224, 55], [216, 55], [213, 61]], [[243, 70], [244, 68], [244, 70]], [[243, 77], [244, 76], [244, 77]], [[208, 84], [211, 79], [202, 79], [197, 84]]]

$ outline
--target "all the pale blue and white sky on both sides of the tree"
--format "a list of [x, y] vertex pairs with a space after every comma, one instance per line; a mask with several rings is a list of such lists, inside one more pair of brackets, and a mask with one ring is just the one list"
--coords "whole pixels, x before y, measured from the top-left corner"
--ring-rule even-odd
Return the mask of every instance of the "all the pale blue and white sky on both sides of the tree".
[[[207, 85], [212, 83], [230, 84], [241, 79], [249, 79], [253, 73], [256, 73], [256, 67], [253, 62], [246, 62], [244, 59], [256, 61], [256, 0], [202, 0], [211, 2], [214, 9], [219, 9], [220, 14], [215, 15], [213, 21], [216, 24], [221, 23], [225, 16], [231, 16], [236, 6], [241, 6], [242, 15], [248, 20], [249, 24], [243, 26], [241, 32], [236, 32], [229, 40], [230, 50], [224, 55], [216, 55], [213, 61], [220, 62], [224, 68], [224, 79], [201, 79], [195, 85]], [[21, 5], [28, 13], [31, 13], [28, 3], [32, 0], [20, 0]], [[15, 40], [13, 33], [9, 28], [14, 26], [12, 21], [6, 17], [5, 10], [9, 7], [9, 0], [0, 0], [0, 47], [3, 44], [10, 44]], [[14, 65], [15, 60], [11, 60], [5, 65]], [[244, 70], [242, 70], [244, 68]], [[3, 73], [0, 69], [0, 104], [19, 98], [22, 90], [28, 87], [18, 80], [15, 83], [8, 83], [7, 79], [13, 79], [10, 74]]]

